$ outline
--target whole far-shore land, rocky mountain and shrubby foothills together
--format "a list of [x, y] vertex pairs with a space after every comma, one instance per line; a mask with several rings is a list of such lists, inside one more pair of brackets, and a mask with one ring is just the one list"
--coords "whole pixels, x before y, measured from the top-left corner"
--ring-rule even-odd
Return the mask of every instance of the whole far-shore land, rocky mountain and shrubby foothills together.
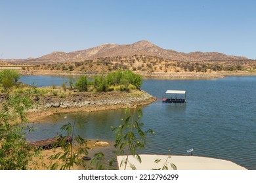
[[253, 59], [217, 52], [185, 54], [148, 41], [102, 44], [69, 53], [53, 52], [40, 58], [5, 59], [0, 65], [20, 66], [24, 75], [93, 75], [118, 69], [158, 78], [216, 78], [256, 73]]

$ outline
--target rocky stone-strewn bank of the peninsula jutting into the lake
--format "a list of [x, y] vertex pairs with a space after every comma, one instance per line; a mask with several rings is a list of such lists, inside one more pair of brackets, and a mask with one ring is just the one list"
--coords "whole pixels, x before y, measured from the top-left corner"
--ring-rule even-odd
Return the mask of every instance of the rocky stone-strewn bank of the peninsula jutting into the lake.
[[43, 120], [48, 116], [66, 112], [92, 112], [119, 108], [136, 108], [156, 101], [152, 95], [141, 91], [130, 92], [83, 92], [75, 93], [66, 98], [41, 97], [37, 99], [33, 109], [28, 110], [30, 122]]

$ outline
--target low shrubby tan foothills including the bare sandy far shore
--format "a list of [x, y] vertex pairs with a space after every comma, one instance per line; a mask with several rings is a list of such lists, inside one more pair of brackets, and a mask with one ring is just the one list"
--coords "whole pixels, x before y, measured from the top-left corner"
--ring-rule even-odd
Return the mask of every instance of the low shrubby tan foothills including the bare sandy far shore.
[[129, 69], [147, 77], [201, 78], [256, 75], [256, 61], [173, 61], [156, 56], [116, 56], [74, 63], [43, 63], [23, 66], [23, 75], [94, 75]]

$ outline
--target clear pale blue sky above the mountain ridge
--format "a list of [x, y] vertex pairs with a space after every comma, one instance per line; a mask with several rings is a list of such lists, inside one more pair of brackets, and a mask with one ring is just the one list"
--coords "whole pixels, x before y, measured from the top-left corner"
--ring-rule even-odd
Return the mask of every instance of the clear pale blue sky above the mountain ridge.
[[140, 40], [256, 59], [256, 1], [0, 1], [2, 58]]

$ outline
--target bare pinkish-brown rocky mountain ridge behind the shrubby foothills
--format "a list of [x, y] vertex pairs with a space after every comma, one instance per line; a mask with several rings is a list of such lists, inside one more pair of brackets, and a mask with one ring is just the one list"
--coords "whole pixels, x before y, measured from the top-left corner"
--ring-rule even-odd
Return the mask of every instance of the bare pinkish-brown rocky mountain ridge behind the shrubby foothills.
[[175, 61], [242, 61], [248, 58], [227, 56], [218, 52], [191, 52], [185, 54], [175, 50], [166, 50], [148, 41], [139, 41], [133, 44], [102, 44], [94, 48], [75, 52], [53, 52], [40, 58], [5, 59], [9, 63], [60, 63], [84, 61], [85, 59], [106, 58], [115, 56], [146, 55], [167, 58]]

